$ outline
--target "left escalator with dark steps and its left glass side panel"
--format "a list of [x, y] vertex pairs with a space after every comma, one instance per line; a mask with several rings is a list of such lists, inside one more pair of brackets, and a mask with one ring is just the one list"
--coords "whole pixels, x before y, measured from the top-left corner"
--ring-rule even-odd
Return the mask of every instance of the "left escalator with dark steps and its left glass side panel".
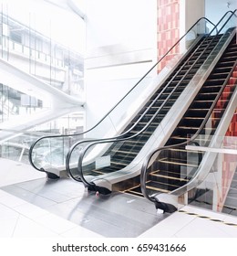
[[[206, 32], [208, 27], [213, 27], [209, 34]], [[115, 169], [121, 168], [126, 163], [129, 164], [132, 158], [129, 155], [126, 158], [123, 155], [124, 150], [127, 152], [130, 149], [137, 151], [137, 153], [140, 151], [144, 141], [148, 140], [152, 131], [157, 128], [165, 114], [169, 112], [173, 103], [185, 90], [191, 77], [194, 76], [207, 57], [208, 52], [211, 52], [211, 48], [221, 38], [220, 35], [216, 34], [216, 31], [215, 25], [210, 20], [204, 17], [199, 19], [93, 127], [82, 133], [57, 136], [49, 134], [36, 140], [30, 147], [30, 164], [36, 170], [46, 172], [48, 177], [64, 176], [67, 169], [70, 176], [80, 180], [77, 172], [77, 158], [81, 148], [85, 144], [93, 142], [88, 138], [96, 138], [95, 141], [106, 138], [109, 141], [109, 139], [117, 136], [116, 139], [120, 140], [122, 138], [128, 139], [133, 135], [137, 136], [140, 133], [136, 145], [133, 144], [132, 139], [130, 142], [128, 140], [127, 144], [121, 148], [120, 155], [117, 155], [118, 158], [113, 158], [117, 164], [118, 161], [120, 163], [121, 158], [124, 160], [122, 165], [118, 167], [114, 165]], [[193, 34], [196, 35], [195, 38], [193, 38]], [[196, 46], [198, 47], [196, 48]], [[205, 54], [201, 54], [204, 49]], [[159, 70], [157, 75], [158, 66], [164, 66], [163, 61], [167, 63], [167, 66]], [[184, 69], [185, 63], [188, 61], [192, 63], [190, 69]], [[168, 80], [169, 76], [170, 79]], [[166, 83], [164, 83], [165, 80]], [[166, 101], [167, 99], [169, 102]], [[138, 100], [139, 102], [137, 102]], [[142, 110], [141, 106], [143, 106]], [[158, 112], [160, 115], [155, 117], [154, 114]], [[81, 146], [81, 142], [83, 142], [83, 146]], [[69, 149], [72, 149], [73, 153], [68, 155]], [[42, 152], [48, 153], [46, 157]], [[55, 153], [57, 153], [57, 157], [55, 157]], [[61, 159], [59, 162], [54, 160], [59, 158]], [[66, 168], [65, 165], [67, 165]], [[104, 171], [106, 172], [106, 169]]]

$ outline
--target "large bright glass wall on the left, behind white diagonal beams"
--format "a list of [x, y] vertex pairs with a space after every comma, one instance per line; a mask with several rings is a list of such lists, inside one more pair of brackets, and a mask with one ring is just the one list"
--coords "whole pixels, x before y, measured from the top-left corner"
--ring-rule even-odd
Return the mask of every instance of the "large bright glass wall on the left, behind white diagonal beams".
[[[36, 77], [47, 85], [45, 88], [59, 91], [59, 95], [63, 92], [81, 98], [85, 91], [84, 48], [85, 21], [67, 3], [0, 0], [1, 63], [24, 71], [29, 78]], [[33, 94], [35, 89], [26, 88], [24, 82], [5, 82], [4, 75], [5, 72], [0, 77], [0, 157], [28, 163], [28, 149], [37, 138], [83, 130], [82, 108], [58, 114], [60, 106], [52, 108], [50, 97]], [[38, 123], [31, 123], [30, 118], [36, 113], [52, 110], [56, 114], [49, 115], [45, 123], [44, 114]], [[18, 120], [26, 120], [34, 128], [16, 128]]]

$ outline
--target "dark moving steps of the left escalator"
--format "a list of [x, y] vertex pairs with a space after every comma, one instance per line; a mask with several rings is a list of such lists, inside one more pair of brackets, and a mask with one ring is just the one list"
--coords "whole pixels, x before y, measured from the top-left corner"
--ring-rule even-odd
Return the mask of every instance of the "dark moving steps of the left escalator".
[[126, 139], [126, 141], [123, 141], [122, 144], [112, 144], [104, 153], [104, 155], [110, 155], [111, 165], [95, 171], [95, 165], [92, 164], [88, 165], [87, 169], [84, 167], [83, 172], [86, 175], [97, 176], [118, 171], [129, 165], [170, 111], [182, 91], [188, 86], [220, 38], [221, 36], [202, 37], [197, 42], [198, 46], [195, 47], [196, 45], [194, 45], [191, 48], [191, 52], [182, 59], [178, 67], [170, 74], [170, 77], [165, 80], [159, 90], [154, 93], [129, 123], [129, 126], [117, 137], [118, 141], [119, 139]]

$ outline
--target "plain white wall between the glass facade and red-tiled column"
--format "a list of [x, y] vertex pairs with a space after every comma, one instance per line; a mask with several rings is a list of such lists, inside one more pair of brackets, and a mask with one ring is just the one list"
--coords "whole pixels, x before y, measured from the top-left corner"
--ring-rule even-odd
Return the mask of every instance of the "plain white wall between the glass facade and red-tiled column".
[[156, 61], [156, 0], [88, 0], [87, 127], [102, 116]]

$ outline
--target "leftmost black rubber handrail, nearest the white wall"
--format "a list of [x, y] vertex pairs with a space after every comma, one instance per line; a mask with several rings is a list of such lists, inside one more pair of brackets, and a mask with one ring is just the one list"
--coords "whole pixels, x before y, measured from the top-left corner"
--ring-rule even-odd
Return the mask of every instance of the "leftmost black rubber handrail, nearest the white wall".
[[[34, 147], [36, 146], [36, 144], [38, 144], [40, 141], [44, 140], [44, 139], [52, 139], [52, 138], [64, 138], [64, 137], [76, 137], [76, 136], [79, 136], [79, 135], [82, 135], [82, 134], [85, 134], [85, 133], [88, 133], [92, 130], [94, 130], [100, 123], [102, 123], [107, 117], [108, 115], [113, 112], [116, 107], [120, 104], [121, 101], [123, 101], [125, 98], [127, 98], [127, 96], [129, 95], [129, 93], [131, 91], [133, 91], [138, 85], [139, 83], [144, 80], [147, 75], [149, 74], [149, 72], [151, 72], [151, 70], [153, 70], [155, 67], [157, 67], [157, 65], [160, 63], [160, 61], [162, 59], [164, 59], [166, 56], [168, 56], [168, 54], [170, 53], [170, 51], [175, 48], [179, 43], [180, 43], [180, 40], [183, 38], [183, 37], [186, 37], [186, 35], [191, 31], [191, 29], [193, 27], [195, 27], [201, 20], [206, 20], [207, 22], [209, 22], [213, 27], [216, 27], [212, 22], [211, 20], [209, 20], [208, 18], [206, 17], [201, 17], [200, 19], [197, 20], [197, 22], [195, 22], [195, 24], [185, 33], [185, 35], [183, 35], [182, 37], [180, 37], [180, 39], [167, 51], [167, 53], [161, 58], [159, 59], [146, 73], [145, 75], [143, 75], [143, 77], [141, 77], [141, 79], [139, 79], [139, 81], [117, 102], [117, 104], [115, 104], [106, 114], [105, 116], [98, 122], [96, 123], [94, 126], [92, 126], [91, 128], [89, 128], [87, 131], [84, 131], [82, 133], [74, 133], [74, 134], [60, 134], [60, 135], [47, 135], [47, 136], [43, 136], [43, 137], [40, 137], [39, 139], [36, 140], [36, 142], [34, 144], [31, 144], [30, 146], [30, 149], [29, 149], [29, 155], [28, 155], [28, 158], [29, 158], [29, 162], [31, 165], [34, 166], [34, 168], [36, 168], [36, 170], [38, 171], [42, 171], [43, 169], [42, 168], [38, 168], [36, 167], [36, 165], [34, 164], [34, 161], [33, 161], [33, 150], [34, 150]], [[216, 28], [217, 29], [217, 28]], [[43, 170], [44, 171], [44, 170]]]

